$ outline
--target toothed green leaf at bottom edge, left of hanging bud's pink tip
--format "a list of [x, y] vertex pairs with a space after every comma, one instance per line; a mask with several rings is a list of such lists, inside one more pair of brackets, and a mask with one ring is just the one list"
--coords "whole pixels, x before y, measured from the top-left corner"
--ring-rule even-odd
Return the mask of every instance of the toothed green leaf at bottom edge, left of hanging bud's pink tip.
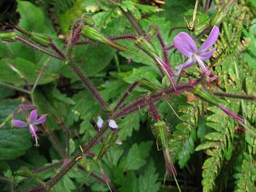
[[148, 163], [143, 175], [140, 175], [138, 179], [140, 192], [157, 192], [160, 189], [161, 183], [157, 182], [158, 174], [154, 166], [153, 160]]

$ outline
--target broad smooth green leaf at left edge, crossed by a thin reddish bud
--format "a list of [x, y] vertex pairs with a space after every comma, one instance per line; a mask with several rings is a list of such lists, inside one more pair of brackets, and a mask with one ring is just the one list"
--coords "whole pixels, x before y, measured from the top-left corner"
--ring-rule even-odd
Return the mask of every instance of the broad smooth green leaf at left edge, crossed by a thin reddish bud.
[[[34, 63], [17, 58], [17, 59], [1, 59], [0, 60], [0, 81], [11, 83], [15, 85], [24, 85], [24, 81], [15, 73], [10, 67], [7, 66], [7, 63], [11, 63], [15, 68], [17, 68], [23, 75], [25, 75], [29, 84], [34, 84], [37, 78], [37, 75], [41, 68], [37, 67]], [[40, 84], [46, 84], [54, 81], [58, 76], [53, 75], [47, 72], [44, 72], [40, 81]]]

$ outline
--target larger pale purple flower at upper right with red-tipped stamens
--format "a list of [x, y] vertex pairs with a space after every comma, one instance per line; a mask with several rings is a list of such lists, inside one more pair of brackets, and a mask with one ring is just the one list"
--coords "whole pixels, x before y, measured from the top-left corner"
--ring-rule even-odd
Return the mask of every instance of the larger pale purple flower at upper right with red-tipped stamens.
[[212, 56], [213, 52], [216, 50], [217, 47], [214, 47], [212, 50], [208, 51], [211, 46], [217, 41], [219, 33], [219, 27], [214, 26], [209, 37], [207, 37], [199, 50], [197, 49], [194, 40], [187, 33], [181, 32], [174, 37], [174, 46], [179, 50], [181, 54], [188, 57], [188, 60], [185, 63], [176, 67], [176, 69], [179, 70], [178, 76], [183, 69], [187, 69], [193, 66], [196, 62], [198, 62], [202, 74], [207, 77], [207, 81], [209, 81], [209, 79], [215, 79], [215, 77], [210, 77], [210, 71], [205, 65], [204, 61], [209, 59]]

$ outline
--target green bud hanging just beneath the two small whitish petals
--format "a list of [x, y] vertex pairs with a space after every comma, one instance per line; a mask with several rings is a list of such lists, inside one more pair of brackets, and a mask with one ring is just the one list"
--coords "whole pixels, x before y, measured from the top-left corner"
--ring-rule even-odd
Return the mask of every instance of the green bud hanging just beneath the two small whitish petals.
[[103, 155], [105, 155], [105, 153], [107, 152], [107, 150], [111, 147], [115, 145], [115, 142], [118, 138], [118, 132], [117, 131], [110, 131], [106, 137], [106, 139], [104, 140], [103, 146], [100, 149], [100, 152], [97, 156], [94, 157], [96, 162], [99, 162], [100, 159], [103, 157]]

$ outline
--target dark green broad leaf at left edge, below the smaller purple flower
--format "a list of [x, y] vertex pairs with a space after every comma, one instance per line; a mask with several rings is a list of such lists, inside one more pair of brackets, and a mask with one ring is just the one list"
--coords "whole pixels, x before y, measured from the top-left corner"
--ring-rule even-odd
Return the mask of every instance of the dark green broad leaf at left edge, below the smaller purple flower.
[[0, 129], [0, 160], [15, 159], [32, 146], [28, 127]]

